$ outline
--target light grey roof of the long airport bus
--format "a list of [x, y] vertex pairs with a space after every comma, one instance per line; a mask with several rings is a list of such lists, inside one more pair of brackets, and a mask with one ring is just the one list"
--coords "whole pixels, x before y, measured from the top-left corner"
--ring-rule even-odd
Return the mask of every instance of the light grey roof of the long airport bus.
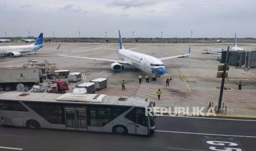
[[33, 102], [85, 103], [119, 106], [146, 107], [149, 99], [138, 96], [107, 96], [103, 94], [51, 94], [33, 92], [6, 92], [0, 95], [0, 100], [19, 100]]

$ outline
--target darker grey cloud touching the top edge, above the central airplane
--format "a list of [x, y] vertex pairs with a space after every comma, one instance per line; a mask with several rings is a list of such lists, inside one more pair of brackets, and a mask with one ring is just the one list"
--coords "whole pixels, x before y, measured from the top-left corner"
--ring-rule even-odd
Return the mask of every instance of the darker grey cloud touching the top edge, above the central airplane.
[[155, 3], [159, 3], [162, 1], [157, 0], [114, 0], [110, 3], [108, 3], [108, 6], [116, 6], [116, 7], [122, 7], [124, 9], [132, 8], [132, 7], [148, 7], [150, 5], [153, 5]]

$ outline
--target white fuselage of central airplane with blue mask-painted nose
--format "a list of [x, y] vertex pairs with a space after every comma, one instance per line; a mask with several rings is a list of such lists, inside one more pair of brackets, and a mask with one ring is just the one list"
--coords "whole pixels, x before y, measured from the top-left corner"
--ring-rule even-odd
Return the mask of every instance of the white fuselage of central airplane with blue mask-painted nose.
[[135, 51], [119, 49], [118, 56], [130, 66], [140, 69], [149, 75], [160, 77], [165, 74], [165, 65], [154, 56], [137, 53]]

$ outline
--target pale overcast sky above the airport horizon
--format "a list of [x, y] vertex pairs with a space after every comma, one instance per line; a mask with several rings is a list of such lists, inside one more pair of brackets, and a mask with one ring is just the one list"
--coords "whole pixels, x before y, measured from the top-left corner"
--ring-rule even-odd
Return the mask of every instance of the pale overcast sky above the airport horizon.
[[0, 0], [0, 37], [256, 38], [255, 0]]

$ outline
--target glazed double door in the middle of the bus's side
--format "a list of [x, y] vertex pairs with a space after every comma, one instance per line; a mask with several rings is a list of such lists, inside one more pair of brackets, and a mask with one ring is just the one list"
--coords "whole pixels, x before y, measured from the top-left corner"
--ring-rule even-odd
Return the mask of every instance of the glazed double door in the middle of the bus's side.
[[64, 109], [67, 130], [87, 130], [86, 108], [66, 107]]

